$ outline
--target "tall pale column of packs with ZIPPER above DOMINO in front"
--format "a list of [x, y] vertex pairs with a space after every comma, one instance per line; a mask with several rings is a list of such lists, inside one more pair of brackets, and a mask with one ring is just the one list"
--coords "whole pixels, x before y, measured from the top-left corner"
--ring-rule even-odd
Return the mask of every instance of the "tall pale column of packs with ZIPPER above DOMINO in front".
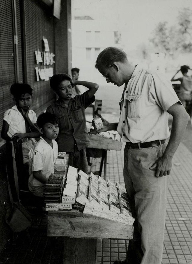
[[72, 205], [75, 203], [76, 191], [77, 191], [77, 176], [78, 169], [69, 166], [67, 177], [61, 196], [61, 202], [59, 203], [59, 210], [70, 211]]

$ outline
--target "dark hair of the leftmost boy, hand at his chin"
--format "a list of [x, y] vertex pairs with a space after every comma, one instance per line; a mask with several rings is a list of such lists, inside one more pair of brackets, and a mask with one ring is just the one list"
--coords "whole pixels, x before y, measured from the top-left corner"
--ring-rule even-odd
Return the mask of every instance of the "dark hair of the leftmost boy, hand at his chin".
[[33, 89], [27, 83], [14, 83], [11, 85], [10, 92], [15, 99], [19, 99], [23, 94], [32, 95]]

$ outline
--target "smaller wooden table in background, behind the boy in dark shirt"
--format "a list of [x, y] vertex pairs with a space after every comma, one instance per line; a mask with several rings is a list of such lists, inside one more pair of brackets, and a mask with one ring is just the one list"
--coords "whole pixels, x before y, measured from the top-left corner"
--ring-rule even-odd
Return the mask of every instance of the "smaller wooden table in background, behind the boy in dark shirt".
[[122, 142], [113, 140], [106, 137], [101, 137], [95, 134], [89, 134], [90, 145], [89, 148], [102, 149], [101, 164], [99, 170], [99, 176], [101, 176], [103, 163], [104, 163], [104, 179], [106, 179], [107, 169], [107, 150], [121, 150]]

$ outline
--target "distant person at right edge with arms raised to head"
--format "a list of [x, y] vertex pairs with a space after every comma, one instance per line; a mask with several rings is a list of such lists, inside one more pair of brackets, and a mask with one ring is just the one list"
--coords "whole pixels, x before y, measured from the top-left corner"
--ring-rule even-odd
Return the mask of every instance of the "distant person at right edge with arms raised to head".
[[[175, 79], [175, 76], [181, 70], [183, 77]], [[191, 116], [191, 100], [192, 100], [192, 76], [188, 76], [188, 70], [191, 70], [189, 66], [183, 65], [172, 77], [171, 82], [180, 81], [180, 91], [178, 97], [182, 102], [184, 108], [188, 111]]]

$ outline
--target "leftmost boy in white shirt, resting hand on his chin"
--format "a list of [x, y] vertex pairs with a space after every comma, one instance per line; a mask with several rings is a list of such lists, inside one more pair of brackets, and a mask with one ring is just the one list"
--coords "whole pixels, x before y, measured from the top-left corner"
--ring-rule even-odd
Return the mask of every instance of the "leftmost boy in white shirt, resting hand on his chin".
[[11, 85], [10, 92], [13, 95], [15, 106], [4, 113], [1, 137], [11, 141], [14, 137], [22, 140], [23, 164], [29, 162], [29, 151], [36, 143], [34, 137], [38, 137], [36, 127], [37, 116], [30, 109], [32, 104], [32, 88], [29, 84], [15, 83]]

